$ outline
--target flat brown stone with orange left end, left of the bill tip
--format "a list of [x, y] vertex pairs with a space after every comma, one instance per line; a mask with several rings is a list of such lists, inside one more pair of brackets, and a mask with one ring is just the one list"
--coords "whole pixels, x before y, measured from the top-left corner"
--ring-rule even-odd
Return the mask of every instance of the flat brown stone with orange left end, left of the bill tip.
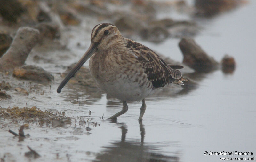
[[43, 68], [34, 65], [25, 65], [15, 68], [13, 76], [21, 79], [27, 79], [38, 82], [53, 81], [54, 77]]

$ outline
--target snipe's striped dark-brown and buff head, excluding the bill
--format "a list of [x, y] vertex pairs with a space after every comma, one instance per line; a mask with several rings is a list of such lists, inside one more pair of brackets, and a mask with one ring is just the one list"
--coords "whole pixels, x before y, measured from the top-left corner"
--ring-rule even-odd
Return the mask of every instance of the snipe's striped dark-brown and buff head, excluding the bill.
[[100, 50], [114, 48], [116, 43], [123, 38], [116, 26], [103, 23], [98, 24], [92, 29], [91, 42]]

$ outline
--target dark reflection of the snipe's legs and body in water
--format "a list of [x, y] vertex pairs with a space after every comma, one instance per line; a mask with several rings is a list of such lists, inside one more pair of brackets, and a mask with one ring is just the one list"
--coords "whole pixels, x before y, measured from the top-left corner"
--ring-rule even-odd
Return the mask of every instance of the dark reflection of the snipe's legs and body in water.
[[[112, 121], [116, 123], [116, 121]], [[158, 161], [158, 162], [178, 162], [179, 157], [177, 152], [173, 153], [173, 156], [167, 156], [159, 153], [160, 147], [144, 143], [145, 126], [142, 122], [140, 124], [141, 141], [137, 140], [125, 140], [128, 132], [127, 125], [125, 123], [116, 123], [122, 130], [121, 141], [111, 142], [110, 146], [104, 146], [104, 150], [97, 154], [95, 161]]]

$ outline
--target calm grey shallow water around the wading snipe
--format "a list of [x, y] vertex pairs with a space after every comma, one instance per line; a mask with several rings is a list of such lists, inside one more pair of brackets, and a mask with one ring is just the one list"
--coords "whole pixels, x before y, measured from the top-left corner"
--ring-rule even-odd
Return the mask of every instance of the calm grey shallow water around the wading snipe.
[[[108, 99], [106, 94], [88, 94], [68, 88], [57, 94], [61, 79], [55, 77], [51, 90], [43, 86], [44, 95], [35, 94], [36, 99], [31, 100], [28, 96], [22, 101], [12, 97], [12, 103], [1, 103], [1, 106], [22, 107], [27, 103], [27, 107], [36, 105], [42, 110], [64, 111], [67, 116], [73, 116], [72, 124], [58, 128], [31, 124], [28, 130], [24, 130], [31, 136], [18, 143], [18, 139], [6, 130], [18, 130], [22, 123], [2, 121], [0, 137], [4, 140], [0, 142], [0, 157], [9, 152], [16, 161], [27, 161], [24, 156], [28, 151], [27, 145], [42, 156], [36, 161], [220, 161], [220, 157], [233, 157], [205, 156], [205, 151], [251, 151], [252, 156], [235, 157], [255, 157], [255, 7], [256, 2], [252, 1], [210, 20], [197, 19], [204, 30], [195, 37], [195, 41], [218, 61], [225, 53], [233, 56], [237, 63], [233, 74], [217, 70], [195, 75], [192, 76], [198, 81], [195, 89], [179, 95], [165, 90], [162, 95], [158, 93], [148, 97], [142, 123], [137, 120], [141, 102], [128, 103], [128, 112], [117, 122], [111, 122], [106, 118], [121, 110], [121, 102]], [[54, 64], [35, 63], [32, 54], [27, 64], [39, 64], [54, 73], [63, 72], [65, 69], [59, 66], [76, 62], [88, 47], [82, 43], [89, 42], [89, 38], [84, 36], [88, 31], [74, 31], [75, 38], [68, 46], [71, 52], [67, 58], [59, 59], [60, 52], [54, 56], [58, 60]], [[179, 41], [172, 38], [161, 44], [140, 42], [165, 56], [182, 61], [177, 45]], [[76, 42], [81, 42], [81, 47], [76, 47]], [[59, 65], [58, 68], [55, 64]], [[88, 122], [79, 125], [77, 116], [91, 119], [91, 122], [97, 122], [97, 126], [90, 124], [92, 130], [86, 131]]]

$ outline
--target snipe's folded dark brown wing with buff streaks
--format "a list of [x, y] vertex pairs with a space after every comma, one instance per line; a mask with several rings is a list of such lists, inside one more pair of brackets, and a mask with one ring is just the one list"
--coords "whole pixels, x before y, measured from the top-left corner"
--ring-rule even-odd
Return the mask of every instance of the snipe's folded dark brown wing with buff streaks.
[[162, 58], [146, 46], [134, 41], [128, 41], [130, 52], [145, 69], [148, 79], [155, 88], [164, 87], [176, 79], [180, 79], [181, 72], [169, 67]]

